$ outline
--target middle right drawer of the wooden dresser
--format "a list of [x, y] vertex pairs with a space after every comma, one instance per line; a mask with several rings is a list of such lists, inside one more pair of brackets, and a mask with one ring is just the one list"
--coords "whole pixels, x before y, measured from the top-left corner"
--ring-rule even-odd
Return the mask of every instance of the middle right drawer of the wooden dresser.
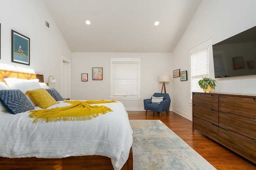
[[219, 125], [256, 139], [256, 120], [231, 113], [219, 113]]

